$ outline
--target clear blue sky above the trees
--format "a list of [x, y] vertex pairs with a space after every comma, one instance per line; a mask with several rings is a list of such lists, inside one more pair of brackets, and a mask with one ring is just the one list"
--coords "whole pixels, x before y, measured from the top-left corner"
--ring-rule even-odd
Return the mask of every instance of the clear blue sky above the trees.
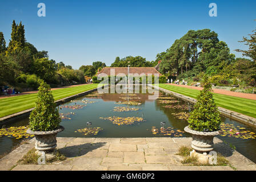
[[[46, 17], [38, 17], [38, 3], [45, 3]], [[209, 4], [217, 4], [217, 17]], [[110, 65], [115, 57], [142, 56], [155, 60], [189, 30], [217, 32], [231, 52], [247, 49], [238, 43], [256, 27], [256, 1], [3, 1], [0, 31], [7, 44], [11, 23], [22, 21], [26, 40], [50, 59], [79, 68], [93, 61]]]

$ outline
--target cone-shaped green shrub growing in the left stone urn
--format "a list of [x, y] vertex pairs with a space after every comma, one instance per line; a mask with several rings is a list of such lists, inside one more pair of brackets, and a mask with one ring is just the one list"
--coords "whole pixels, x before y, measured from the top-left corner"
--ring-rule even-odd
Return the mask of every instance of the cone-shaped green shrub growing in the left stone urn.
[[44, 81], [39, 86], [35, 109], [31, 112], [29, 119], [29, 126], [32, 131], [55, 130], [61, 122], [50, 86]]

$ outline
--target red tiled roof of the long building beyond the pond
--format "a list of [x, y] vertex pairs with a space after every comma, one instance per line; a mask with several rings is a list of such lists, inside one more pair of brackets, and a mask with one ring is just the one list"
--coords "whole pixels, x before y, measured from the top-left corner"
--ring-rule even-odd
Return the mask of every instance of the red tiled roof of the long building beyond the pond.
[[[128, 68], [127, 67], [105, 67], [103, 68], [97, 75], [101, 73], [105, 73], [106, 75], [110, 75], [110, 69], [114, 69], [115, 75], [118, 75], [120, 73], [124, 73], [125, 75], [128, 75]], [[130, 67], [130, 74], [138, 73], [138, 75], [141, 75], [141, 73], [145, 73], [145, 75], [151, 73], [159, 74], [161, 76], [161, 73], [157, 71], [154, 67]]]

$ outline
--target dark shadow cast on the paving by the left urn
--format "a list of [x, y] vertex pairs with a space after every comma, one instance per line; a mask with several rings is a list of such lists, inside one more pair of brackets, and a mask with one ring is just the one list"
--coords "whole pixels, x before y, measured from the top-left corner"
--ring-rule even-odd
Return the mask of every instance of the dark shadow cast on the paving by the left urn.
[[68, 146], [60, 148], [59, 151], [64, 154], [67, 158], [75, 158], [87, 154], [90, 151], [93, 151], [97, 148], [105, 146], [106, 142], [98, 143], [85, 143], [74, 146]]

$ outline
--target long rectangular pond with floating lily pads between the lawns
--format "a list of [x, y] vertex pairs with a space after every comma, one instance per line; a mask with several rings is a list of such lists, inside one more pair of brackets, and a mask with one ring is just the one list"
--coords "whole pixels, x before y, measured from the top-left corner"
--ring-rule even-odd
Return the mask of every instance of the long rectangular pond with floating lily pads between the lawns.
[[[65, 130], [58, 133], [58, 137], [190, 137], [190, 134], [184, 133], [183, 129], [188, 125], [186, 117], [193, 109], [193, 105], [161, 91], [157, 100], [149, 100], [150, 95], [152, 94], [93, 92], [60, 105], [59, 113], [61, 117], [63, 115], [61, 125]], [[121, 103], [125, 101], [128, 101], [127, 104], [139, 105]], [[180, 115], [175, 115], [178, 113]], [[256, 129], [230, 118], [223, 116], [221, 118], [225, 131], [223, 137], [219, 135], [218, 138], [235, 146], [238, 152], [256, 163]], [[86, 126], [87, 122], [91, 122], [91, 126]], [[161, 122], [165, 122], [164, 129], [161, 129]], [[11, 125], [6, 125], [5, 128], [28, 124], [28, 118], [19, 119]], [[87, 135], [81, 131], [81, 129], [91, 130], [97, 127], [102, 130], [96, 132], [94, 130]], [[234, 134], [233, 131], [236, 133], [236, 129], [245, 136]], [[13, 146], [21, 142], [21, 139], [2, 135], [0, 155], [10, 151]]]

